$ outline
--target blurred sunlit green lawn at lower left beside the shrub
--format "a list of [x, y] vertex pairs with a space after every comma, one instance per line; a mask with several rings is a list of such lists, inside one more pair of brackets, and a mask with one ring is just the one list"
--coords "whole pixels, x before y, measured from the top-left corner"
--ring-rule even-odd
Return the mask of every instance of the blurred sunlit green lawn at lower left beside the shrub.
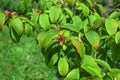
[[14, 43], [7, 27], [0, 31], [0, 80], [58, 80], [56, 69], [46, 66], [35, 39], [33, 33]]

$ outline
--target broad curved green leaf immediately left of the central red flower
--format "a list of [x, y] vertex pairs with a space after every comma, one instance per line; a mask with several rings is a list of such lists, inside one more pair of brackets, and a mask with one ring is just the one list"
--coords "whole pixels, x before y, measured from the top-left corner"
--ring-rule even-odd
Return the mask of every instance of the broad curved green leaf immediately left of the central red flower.
[[55, 31], [46, 31], [46, 32], [41, 32], [39, 33], [37, 40], [38, 44], [42, 47], [45, 48], [47, 47], [52, 39], [55, 39], [57, 37], [57, 33]]

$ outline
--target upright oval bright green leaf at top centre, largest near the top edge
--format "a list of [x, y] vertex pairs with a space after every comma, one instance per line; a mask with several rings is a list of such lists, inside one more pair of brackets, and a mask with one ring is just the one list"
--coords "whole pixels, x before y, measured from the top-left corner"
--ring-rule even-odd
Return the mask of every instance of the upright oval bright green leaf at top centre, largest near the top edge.
[[56, 23], [61, 15], [61, 8], [59, 6], [52, 6], [49, 11], [50, 20], [52, 23]]

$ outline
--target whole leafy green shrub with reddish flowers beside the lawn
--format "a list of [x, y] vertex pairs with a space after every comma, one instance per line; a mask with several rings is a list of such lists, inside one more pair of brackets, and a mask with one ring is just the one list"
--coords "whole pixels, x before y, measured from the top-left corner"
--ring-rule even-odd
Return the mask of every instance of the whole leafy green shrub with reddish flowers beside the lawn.
[[36, 32], [46, 64], [57, 67], [64, 80], [120, 79], [120, 11], [105, 18], [106, 9], [91, 0], [43, 4], [29, 17], [1, 12], [0, 28], [7, 25], [15, 42]]

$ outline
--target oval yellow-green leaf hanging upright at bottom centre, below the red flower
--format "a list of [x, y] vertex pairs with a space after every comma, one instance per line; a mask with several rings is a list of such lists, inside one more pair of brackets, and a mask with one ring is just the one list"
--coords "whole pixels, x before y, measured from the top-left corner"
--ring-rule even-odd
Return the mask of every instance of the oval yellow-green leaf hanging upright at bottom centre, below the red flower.
[[65, 57], [60, 57], [58, 61], [58, 71], [61, 76], [65, 76], [68, 73], [69, 65]]

